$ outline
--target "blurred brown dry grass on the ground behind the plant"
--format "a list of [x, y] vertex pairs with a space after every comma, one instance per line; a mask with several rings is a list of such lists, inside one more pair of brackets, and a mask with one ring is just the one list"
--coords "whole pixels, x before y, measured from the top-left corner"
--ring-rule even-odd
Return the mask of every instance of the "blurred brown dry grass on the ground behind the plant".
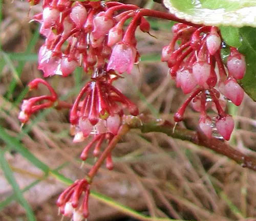
[[[18, 53], [26, 49], [35, 30], [34, 24], [28, 25], [28, 8], [25, 2], [3, 2], [1, 41], [5, 52]], [[39, 8], [32, 10], [38, 11]], [[152, 34], [158, 39], [138, 33], [138, 38], [141, 39], [138, 46], [141, 54], [160, 52], [161, 47], [170, 38], [170, 35], [166, 35], [166, 29], [152, 31]], [[34, 52], [41, 42], [42, 39]], [[16, 65], [17, 61], [13, 62]], [[185, 97], [167, 76], [166, 65], [159, 62], [142, 62], [139, 68], [140, 71], [134, 68], [133, 73], [125, 76], [126, 80], [117, 82], [116, 86], [134, 101], [137, 100], [141, 112], [159, 114], [171, 120]], [[22, 133], [17, 120], [19, 107], [14, 105], [14, 101], [24, 85], [41, 74], [36, 69], [36, 63], [27, 62], [12, 98], [7, 99], [13, 76], [13, 71], [5, 65], [0, 84], [0, 125], [5, 127], [11, 136], [19, 137]], [[86, 77], [82, 77], [82, 80], [86, 80]], [[59, 95], [68, 93], [68, 99], [74, 99], [75, 92], [70, 93], [71, 90], [75, 91], [73, 76], [65, 79], [53, 77], [48, 81]], [[42, 87], [36, 93], [44, 94], [45, 89]], [[236, 111], [233, 107], [230, 110]], [[256, 104], [246, 97], [237, 111], [237, 128], [230, 142], [252, 157], [256, 157], [255, 111]], [[36, 122], [31, 131], [24, 134], [22, 143], [51, 168], [65, 164], [61, 172], [76, 180], [86, 174], [94, 159], [91, 157], [80, 169], [78, 156], [85, 144], [72, 143], [67, 116], [67, 112], [52, 110]], [[188, 110], [186, 116], [183, 125], [195, 128], [198, 114]], [[29, 122], [31, 123], [32, 121]], [[3, 142], [0, 144], [5, 146]], [[113, 155], [114, 170], [102, 168], [92, 188], [110, 196], [116, 202], [138, 211], [146, 211], [145, 214], [152, 217], [184, 220], [256, 220], [253, 218], [256, 217], [256, 173], [211, 150], [169, 138], [164, 134], [142, 135], [139, 131], [131, 131], [117, 145]], [[60, 220], [55, 200], [65, 185], [51, 176], [45, 179], [41, 171], [15, 151], [6, 154], [6, 159], [20, 188], [34, 180], [42, 180], [25, 193], [37, 220]], [[0, 198], [3, 200], [12, 192], [3, 173], [0, 173], [0, 184]], [[124, 216], [120, 211], [99, 203], [93, 197], [90, 199], [90, 211], [89, 220], [117, 219]], [[6, 207], [0, 212], [0, 216], [1, 220], [26, 220], [24, 210], [18, 203]]]

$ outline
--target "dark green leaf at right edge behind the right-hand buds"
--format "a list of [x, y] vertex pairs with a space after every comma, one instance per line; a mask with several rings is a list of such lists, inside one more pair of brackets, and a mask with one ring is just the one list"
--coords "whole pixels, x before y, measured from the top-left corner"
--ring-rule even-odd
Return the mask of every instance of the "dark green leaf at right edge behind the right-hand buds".
[[238, 50], [245, 55], [246, 73], [239, 81], [244, 91], [256, 101], [256, 29], [243, 27], [239, 30], [242, 46]]

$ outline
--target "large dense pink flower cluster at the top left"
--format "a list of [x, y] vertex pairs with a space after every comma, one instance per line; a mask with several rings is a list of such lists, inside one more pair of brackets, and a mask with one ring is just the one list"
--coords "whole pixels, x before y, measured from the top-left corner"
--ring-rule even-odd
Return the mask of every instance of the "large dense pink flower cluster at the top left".
[[[67, 77], [77, 66], [88, 72], [103, 68], [109, 60], [108, 71], [130, 73], [139, 54], [134, 31], [124, 33], [123, 25], [137, 9], [117, 2], [44, 1], [42, 13], [33, 17], [41, 23], [40, 34], [46, 37], [39, 50], [38, 69], [45, 77]], [[118, 13], [120, 10], [125, 11]], [[143, 17], [137, 20], [141, 30], [148, 31], [149, 23]]]

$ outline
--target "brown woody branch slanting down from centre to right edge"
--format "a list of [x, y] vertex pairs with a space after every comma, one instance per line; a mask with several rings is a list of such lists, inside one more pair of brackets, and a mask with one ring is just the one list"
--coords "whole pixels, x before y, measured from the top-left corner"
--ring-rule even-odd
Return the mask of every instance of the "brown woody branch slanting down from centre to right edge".
[[148, 116], [126, 116], [124, 123], [130, 128], [140, 129], [141, 132], [162, 132], [170, 137], [207, 147], [215, 152], [218, 152], [229, 159], [236, 161], [242, 167], [247, 167], [250, 170], [256, 171], [256, 160], [246, 156], [244, 153], [232, 148], [227, 143], [217, 138], [208, 139], [203, 132], [180, 128], [167, 120], [153, 119]]

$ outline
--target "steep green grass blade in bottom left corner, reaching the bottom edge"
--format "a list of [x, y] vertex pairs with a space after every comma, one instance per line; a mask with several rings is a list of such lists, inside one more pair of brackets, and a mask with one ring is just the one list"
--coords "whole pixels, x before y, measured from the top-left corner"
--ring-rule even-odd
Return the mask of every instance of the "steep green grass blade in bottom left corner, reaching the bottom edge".
[[0, 149], [0, 165], [2, 167], [2, 170], [4, 172], [6, 180], [12, 186], [13, 192], [15, 193], [15, 195], [16, 195], [17, 199], [19, 200], [20, 204], [26, 210], [28, 220], [29, 221], [36, 221], [33, 210], [29, 206], [28, 202], [25, 200], [22, 191], [20, 190], [18, 184], [16, 183], [16, 180], [13, 176], [12, 170], [11, 170], [8, 162], [5, 159], [5, 151], [3, 149]]

